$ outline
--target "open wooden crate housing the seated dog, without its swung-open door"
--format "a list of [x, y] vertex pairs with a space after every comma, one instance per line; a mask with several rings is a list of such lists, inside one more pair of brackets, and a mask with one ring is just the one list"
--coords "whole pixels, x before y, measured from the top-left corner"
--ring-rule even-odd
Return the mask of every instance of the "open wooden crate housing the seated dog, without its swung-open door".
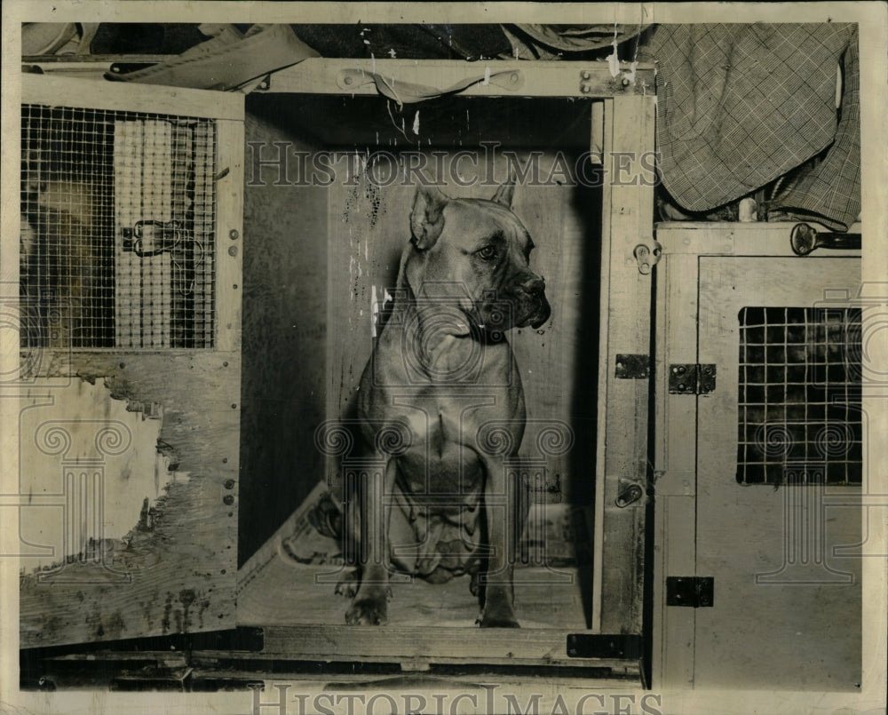
[[[248, 267], [245, 334], [267, 337], [262, 354], [250, 354], [253, 340], [245, 338], [245, 364], [256, 365], [245, 369], [245, 393], [251, 372], [262, 379], [287, 372], [294, 382], [275, 381], [286, 401], [283, 421], [257, 426], [245, 449], [265, 460], [260, 447], [280, 455], [281, 441], [300, 445], [299, 468], [275, 488], [292, 513], [256, 539], [239, 572], [238, 623], [262, 629], [262, 657], [409, 670], [567, 666], [640, 678], [646, 372], [633, 363], [627, 376], [621, 356], [648, 346], [650, 271], [636, 254], [639, 244], [650, 250], [653, 175], [643, 177], [640, 164], [653, 149], [650, 70], [612, 76], [601, 66], [534, 62], [490, 69], [485, 80], [484, 68], [462, 63], [306, 60], [247, 100], [247, 221], [255, 215], [267, 227], [250, 245], [263, 254], [255, 258], [262, 270], [293, 290], [298, 309], [281, 328], [308, 338], [270, 335], [274, 318], [263, 306], [273, 298], [261, 297], [254, 310]], [[457, 84], [469, 89], [409, 101], [411, 92], [428, 96]], [[406, 94], [379, 96], [388, 85]], [[631, 155], [631, 166], [610, 165], [617, 152], [626, 153], [623, 161]], [[563, 173], [579, 161], [589, 186]], [[509, 337], [527, 398], [520, 454], [534, 491], [526, 563], [516, 571], [522, 628], [480, 631], [468, 576], [434, 585], [395, 580], [389, 624], [346, 626], [348, 601], [334, 595], [341, 544], [318, 533], [313, 510], [326, 493], [341, 493], [343, 465], [353, 457], [334, 437], [353, 420], [361, 371], [409, 239], [416, 175], [404, 180], [404, 172], [421, 164], [432, 176], [443, 172], [448, 195], [489, 198], [510, 163], [531, 167], [513, 209], [533, 236], [531, 267], [546, 277], [553, 306], [539, 331]], [[622, 183], [610, 180], [614, 171], [624, 172]], [[334, 172], [329, 187], [311, 180]], [[268, 225], [269, 207], [276, 226]], [[251, 328], [256, 314], [268, 317]], [[302, 417], [294, 424], [287, 415]], [[549, 445], [547, 433], [556, 436]], [[269, 479], [265, 469], [250, 469], [249, 457], [244, 464], [242, 510], [247, 493], [258, 494], [252, 480]], [[242, 512], [242, 529], [258, 513]]]

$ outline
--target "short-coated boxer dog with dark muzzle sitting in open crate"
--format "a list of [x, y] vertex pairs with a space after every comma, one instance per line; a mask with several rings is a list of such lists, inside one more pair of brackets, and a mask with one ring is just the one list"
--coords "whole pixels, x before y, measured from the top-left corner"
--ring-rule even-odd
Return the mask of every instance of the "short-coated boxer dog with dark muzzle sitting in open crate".
[[472, 574], [480, 626], [519, 626], [512, 568], [527, 499], [504, 462], [526, 412], [505, 331], [538, 328], [551, 308], [513, 192], [513, 180], [490, 201], [416, 192], [391, 317], [358, 391], [365, 454], [385, 467], [346, 498], [360, 553], [337, 586], [353, 597], [348, 624], [384, 624], [400, 572], [432, 583]]

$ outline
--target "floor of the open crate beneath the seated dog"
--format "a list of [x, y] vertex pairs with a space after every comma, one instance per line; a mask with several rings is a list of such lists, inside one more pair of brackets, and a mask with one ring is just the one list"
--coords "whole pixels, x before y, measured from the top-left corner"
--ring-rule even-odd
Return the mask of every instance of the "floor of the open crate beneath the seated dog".
[[[348, 600], [334, 594], [336, 566], [306, 565], [280, 554], [242, 581], [237, 600], [242, 625], [341, 625]], [[517, 568], [515, 611], [524, 628], [582, 630], [591, 614], [591, 568]], [[475, 628], [478, 600], [469, 576], [447, 584], [420, 579], [392, 583], [388, 624]]]

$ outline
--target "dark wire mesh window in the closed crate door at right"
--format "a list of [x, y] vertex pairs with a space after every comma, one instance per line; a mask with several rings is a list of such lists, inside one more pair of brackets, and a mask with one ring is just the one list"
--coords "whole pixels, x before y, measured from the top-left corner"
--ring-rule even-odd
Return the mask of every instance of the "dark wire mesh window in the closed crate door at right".
[[860, 309], [740, 311], [741, 484], [860, 484]]

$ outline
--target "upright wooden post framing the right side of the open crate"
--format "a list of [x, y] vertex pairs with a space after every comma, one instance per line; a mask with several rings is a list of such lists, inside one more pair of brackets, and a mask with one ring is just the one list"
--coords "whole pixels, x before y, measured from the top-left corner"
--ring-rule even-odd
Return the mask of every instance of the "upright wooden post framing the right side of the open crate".
[[[651, 277], [639, 273], [633, 250], [653, 238], [654, 191], [651, 178], [639, 175], [642, 155], [654, 146], [653, 98], [614, 99], [606, 112], [602, 204], [606, 248], [600, 307], [601, 345], [606, 349], [599, 360], [599, 419], [606, 417], [607, 422], [599, 431], [603, 441], [599, 441], [597, 504], [607, 538], [599, 558], [600, 628], [637, 633], [644, 580], [644, 500], [622, 509], [614, 502], [621, 479], [646, 482], [648, 380], [617, 379], [614, 366], [617, 354], [650, 352]], [[623, 152], [631, 157], [628, 173], [620, 171], [618, 153]]]

